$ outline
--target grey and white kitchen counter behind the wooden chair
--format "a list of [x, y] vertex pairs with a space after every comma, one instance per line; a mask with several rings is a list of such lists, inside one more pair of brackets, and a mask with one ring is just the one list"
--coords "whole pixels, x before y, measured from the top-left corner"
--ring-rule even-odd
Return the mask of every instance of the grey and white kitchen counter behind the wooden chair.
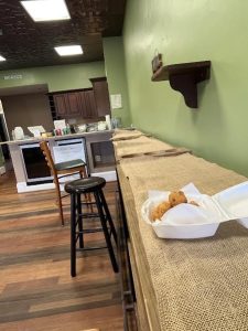
[[[112, 130], [72, 134], [48, 138], [30, 138], [1, 142], [9, 146], [18, 192], [30, 192], [53, 189], [52, 178], [40, 150], [39, 142], [47, 141], [55, 159], [54, 150], [62, 145], [67, 146], [66, 152], [72, 154], [75, 143], [82, 145], [82, 153], [77, 157], [87, 163], [87, 171], [93, 175], [104, 177], [107, 181], [116, 180], [115, 157], [111, 142]], [[72, 148], [69, 148], [69, 145]], [[78, 150], [78, 149], [77, 149]], [[73, 156], [72, 156], [73, 158]], [[85, 159], [84, 159], [85, 158]], [[29, 162], [29, 166], [28, 166]], [[55, 162], [60, 162], [56, 161]], [[28, 170], [29, 169], [29, 170]]]

